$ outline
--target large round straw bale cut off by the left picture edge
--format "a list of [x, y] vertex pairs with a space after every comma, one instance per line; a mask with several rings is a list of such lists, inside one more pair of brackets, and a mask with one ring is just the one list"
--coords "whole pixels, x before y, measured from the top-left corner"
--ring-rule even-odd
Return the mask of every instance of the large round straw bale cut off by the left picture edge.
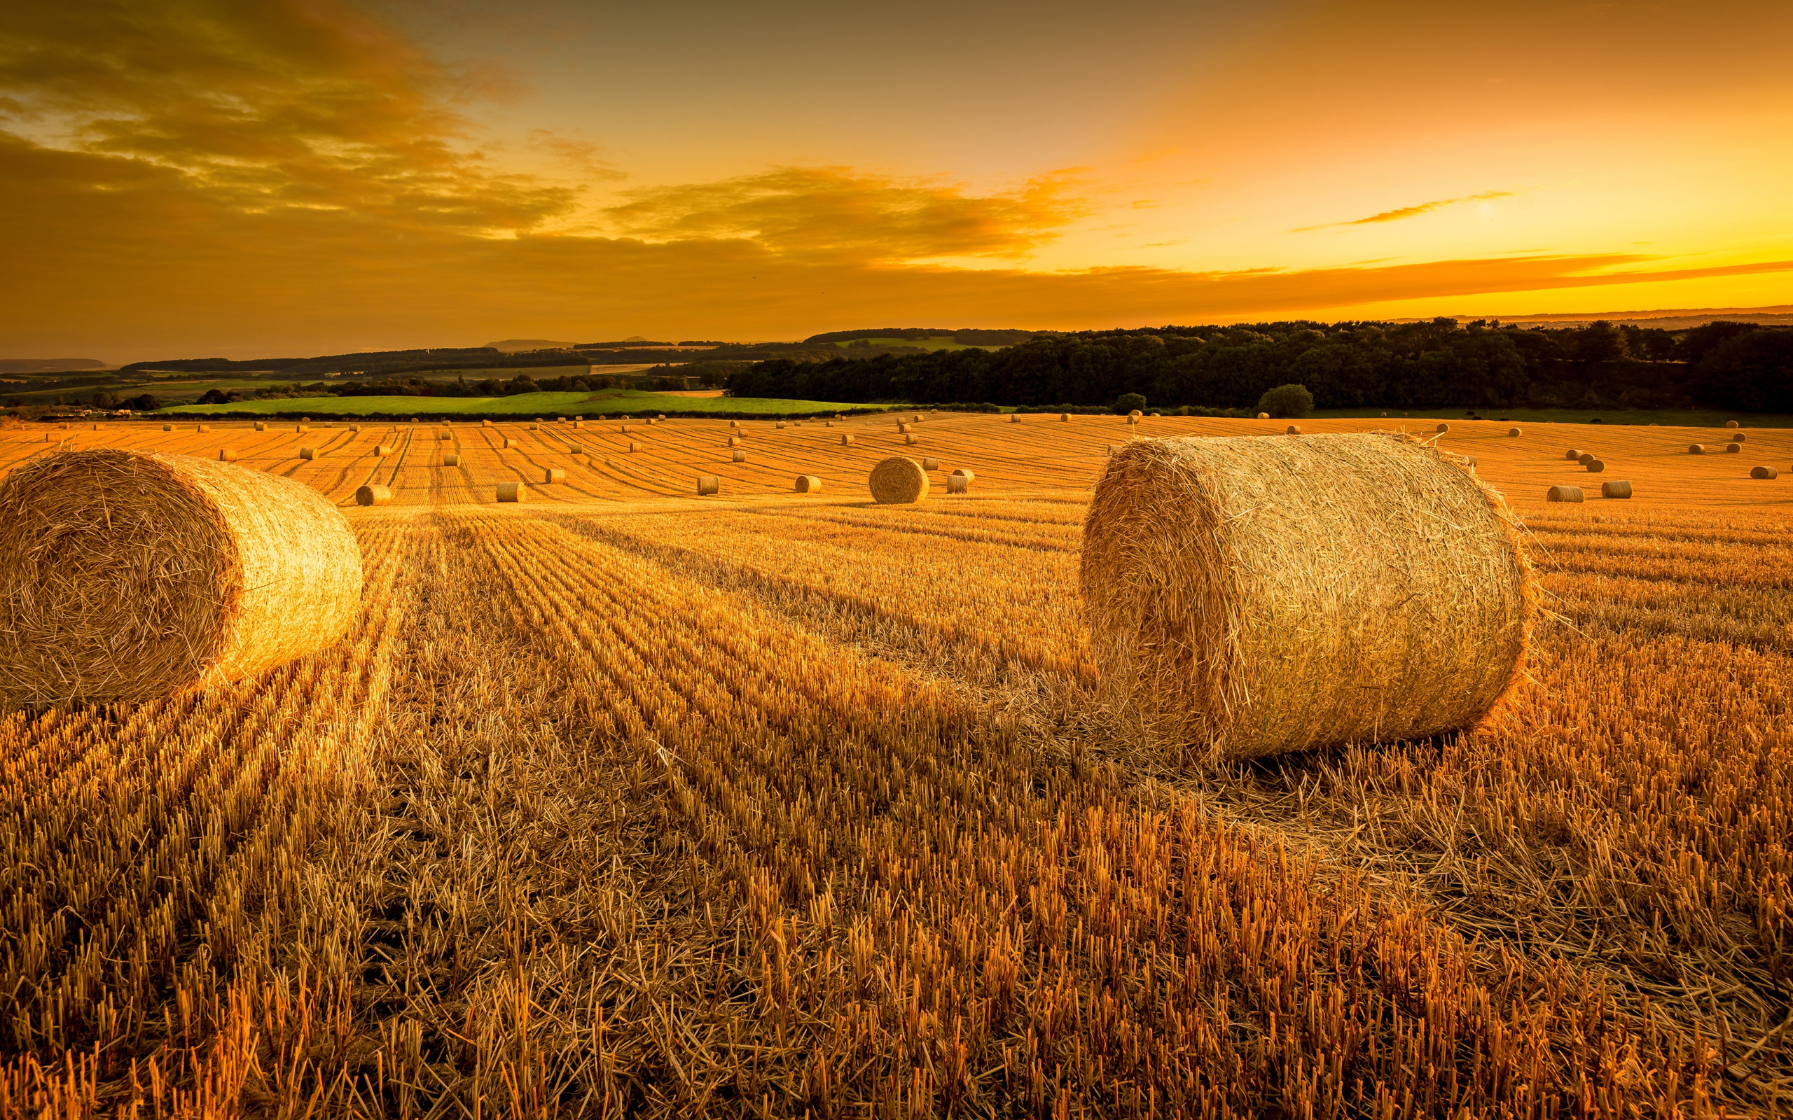
[[0, 484], [0, 702], [253, 676], [335, 643], [359, 613], [355, 534], [301, 482], [91, 450]]

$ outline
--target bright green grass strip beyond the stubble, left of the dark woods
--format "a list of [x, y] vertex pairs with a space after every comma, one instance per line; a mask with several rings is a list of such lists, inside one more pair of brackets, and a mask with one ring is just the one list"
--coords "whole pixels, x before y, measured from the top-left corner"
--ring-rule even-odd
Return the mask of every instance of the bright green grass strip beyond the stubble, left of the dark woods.
[[156, 416], [602, 416], [617, 412], [764, 412], [810, 416], [848, 409], [902, 409], [905, 405], [843, 405], [839, 401], [794, 401], [757, 396], [672, 396], [638, 389], [599, 392], [520, 392], [516, 396], [305, 396], [283, 401], [237, 401], [233, 405], [179, 405]]

